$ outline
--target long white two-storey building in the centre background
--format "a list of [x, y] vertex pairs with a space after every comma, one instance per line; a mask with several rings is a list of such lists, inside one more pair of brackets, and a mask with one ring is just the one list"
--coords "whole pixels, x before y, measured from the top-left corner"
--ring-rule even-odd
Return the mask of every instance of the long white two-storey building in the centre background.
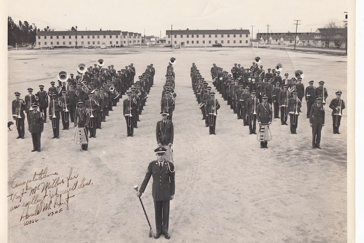
[[168, 30], [166, 42], [181, 47], [250, 46], [249, 30]]

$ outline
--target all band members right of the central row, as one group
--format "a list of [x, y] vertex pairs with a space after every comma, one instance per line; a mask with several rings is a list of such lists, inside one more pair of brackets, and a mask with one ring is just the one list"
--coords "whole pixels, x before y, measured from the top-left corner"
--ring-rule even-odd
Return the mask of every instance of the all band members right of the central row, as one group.
[[[321, 129], [325, 125], [325, 104], [328, 98], [325, 82], [320, 81], [319, 87], [314, 87], [314, 81], [309, 81], [309, 86], [304, 88], [302, 70], [296, 70], [294, 77], [289, 78], [289, 73], [280, 76], [283, 65], [278, 63], [267, 72], [260, 65], [260, 57], [256, 57], [250, 68], [243, 68], [234, 64], [231, 74], [212, 64], [210, 70], [212, 84], [221, 98], [227, 101], [230, 109], [237, 114], [237, 119], [243, 120], [243, 126], [249, 126], [249, 134], [257, 134], [261, 148], [268, 148], [268, 141], [272, 139], [270, 125], [272, 118], [280, 119], [281, 125], [288, 125], [290, 118], [290, 133], [297, 134], [299, 116], [303, 99], [307, 105], [306, 117], [312, 127], [312, 148], [321, 148]], [[209, 133], [215, 134], [217, 110], [220, 103], [212, 92], [212, 87], [202, 77], [195, 63], [191, 67], [192, 89], [201, 109], [205, 126], [210, 127]], [[334, 134], [339, 133], [342, 110], [345, 103], [341, 99], [341, 91], [337, 91], [329, 107], [333, 110]], [[256, 122], [258, 121], [258, 131]]]

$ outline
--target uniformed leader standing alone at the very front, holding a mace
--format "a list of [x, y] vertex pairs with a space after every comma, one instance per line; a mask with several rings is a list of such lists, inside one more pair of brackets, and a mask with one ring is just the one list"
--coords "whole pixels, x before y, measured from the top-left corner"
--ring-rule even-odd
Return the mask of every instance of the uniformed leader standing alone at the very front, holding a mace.
[[154, 152], [158, 160], [149, 164], [147, 174], [137, 192], [137, 196], [142, 196], [149, 179], [153, 175], [152, 195], [156, 226], [154, 238], [157, 239], [163, 234], [166, 239], [170, 239], [168, 233], [169, 201], [173, 200], [175, 194], [175, 166], [171, 161], [165, 160], [166, 149], [164, 147], [158, 147]]

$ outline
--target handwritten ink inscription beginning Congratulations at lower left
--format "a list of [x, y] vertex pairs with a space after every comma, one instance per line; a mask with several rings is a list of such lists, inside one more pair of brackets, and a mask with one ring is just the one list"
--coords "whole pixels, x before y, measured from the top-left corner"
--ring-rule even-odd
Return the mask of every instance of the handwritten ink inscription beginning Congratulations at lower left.
[[61, 176], [58, 172], [49, 173], [45, 168], [26, 180], [14, 178], [9, 190], [11, 194], [7, 196], [9, 215], [18, 213], [19, 222], [24, 226], [34, 224], [44, 217], [69, 210], [77, 190], [90, 185], [91, 179], [73, 173], [73, 168], [70, 168], [67, 176]]

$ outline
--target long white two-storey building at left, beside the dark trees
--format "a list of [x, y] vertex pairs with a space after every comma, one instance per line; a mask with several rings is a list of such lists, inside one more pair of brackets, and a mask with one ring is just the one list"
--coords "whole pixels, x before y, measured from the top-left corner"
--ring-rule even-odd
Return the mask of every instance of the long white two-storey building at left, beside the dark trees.
[[35, 41], [42, 47], [119, 47], [141, 44], [142, 34], [127, 31], [41, 31], [36, 34]]

